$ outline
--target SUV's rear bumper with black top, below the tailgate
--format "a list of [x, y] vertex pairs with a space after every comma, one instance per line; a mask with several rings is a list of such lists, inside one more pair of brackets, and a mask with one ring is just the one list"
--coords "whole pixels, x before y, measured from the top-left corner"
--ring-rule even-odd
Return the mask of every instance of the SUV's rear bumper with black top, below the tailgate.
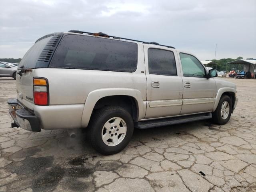
[[22, 129], [40, 132], [38, 117], [26, 110], [17, 99], [8, 100], [9, 113], [17, 126]]

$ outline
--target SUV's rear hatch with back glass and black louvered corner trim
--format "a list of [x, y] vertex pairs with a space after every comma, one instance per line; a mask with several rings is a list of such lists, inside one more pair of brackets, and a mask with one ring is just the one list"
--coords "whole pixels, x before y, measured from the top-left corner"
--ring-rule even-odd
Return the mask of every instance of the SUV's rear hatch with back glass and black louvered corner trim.
[[20, 61], [16, 75], [17, 99], [30, 110], [34, 109], [33, 78], [35, 70], [48, 67], [61, 34], [49, 34], [38, 39]]

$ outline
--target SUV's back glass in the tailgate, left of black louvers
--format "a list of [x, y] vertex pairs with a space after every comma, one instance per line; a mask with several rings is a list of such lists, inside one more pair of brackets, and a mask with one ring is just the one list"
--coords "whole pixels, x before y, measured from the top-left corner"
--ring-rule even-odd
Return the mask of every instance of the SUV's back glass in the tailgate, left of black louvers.
[[36, 42], [29, 50], [26, 52], [26, 54], [23, 56], [22, 60], [20, 61], [19, 67], [24, 66], [25, 68], [36, 68], [36, 62], [48, 43], [48, 41], [52, 38], [52, 36], [49, 36], [47, 38], [44, 38], [38, 42]]

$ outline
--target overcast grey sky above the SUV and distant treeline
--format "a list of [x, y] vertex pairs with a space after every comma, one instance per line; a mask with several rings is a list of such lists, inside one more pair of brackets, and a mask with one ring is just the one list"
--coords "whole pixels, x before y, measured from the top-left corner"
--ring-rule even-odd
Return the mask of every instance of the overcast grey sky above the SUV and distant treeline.
[[158, 42], [200, 60], [256, 58], [256, 0], [0, 0], [0, 58], [22, 58], [52, 32]]

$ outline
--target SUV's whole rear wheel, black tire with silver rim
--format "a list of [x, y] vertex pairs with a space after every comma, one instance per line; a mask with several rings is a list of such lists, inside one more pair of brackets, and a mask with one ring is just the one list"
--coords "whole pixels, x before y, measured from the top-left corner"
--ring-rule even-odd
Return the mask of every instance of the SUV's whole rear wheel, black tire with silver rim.
[[119, 106], [105, 106], [92, 114], [88, 136], [96, 151], [104, 155], [116, 154], [130, 142], [133, 126], [132, 116], [127, 110]]

